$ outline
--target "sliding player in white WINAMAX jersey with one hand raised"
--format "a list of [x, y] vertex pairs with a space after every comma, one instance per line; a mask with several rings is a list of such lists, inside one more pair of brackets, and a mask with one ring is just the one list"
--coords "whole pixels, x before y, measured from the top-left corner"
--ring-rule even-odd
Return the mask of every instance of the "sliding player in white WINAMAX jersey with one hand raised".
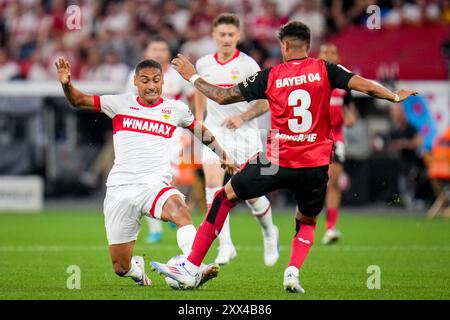
[[[236, 167], [209, 130], [197, 122], [188, 106], [161, 98], [164, 83], [161, 65], [143, 60], [135, 69], [138, 95], [87, 95], [71, 82], [70, 64], [56, 63], [58, 80], [70, 103], [81, 110], [103, 112], [113, 122], [114, 166], [107, 180], [104, 201], [106, 235], [114, 271], [150, 285], [144, 259], [133, 257], [142, 216], [172, 221], [178, 227], [177, 242], [189, 254], [196, 229], [184, 202], [184, 195], [170, 186], [169, 144], [177, 127], [188, 128], [219, 155], [222, 166], [232, 174]], [[167, 116], [169, 115], [169, 116]], [[201, 267], [202, 284], [215, 277], [217, 265]]]

